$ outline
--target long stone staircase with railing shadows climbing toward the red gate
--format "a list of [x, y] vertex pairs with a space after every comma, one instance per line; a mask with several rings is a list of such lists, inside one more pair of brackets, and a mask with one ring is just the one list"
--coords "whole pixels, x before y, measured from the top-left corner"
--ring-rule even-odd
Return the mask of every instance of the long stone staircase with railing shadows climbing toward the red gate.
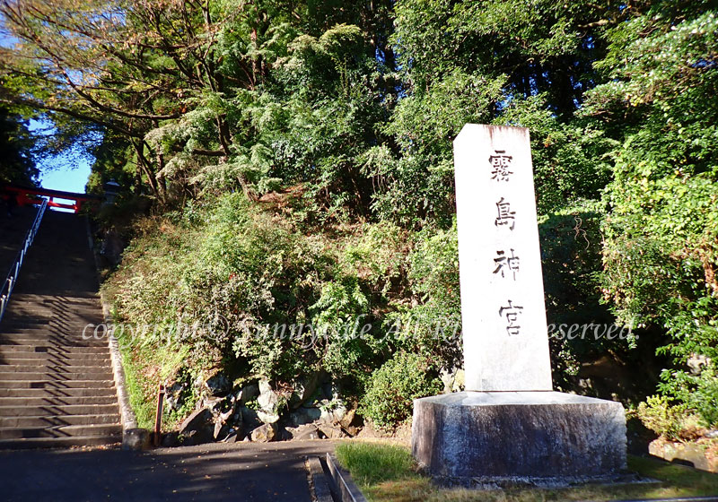
[[120, 441], [97, 290], [83, 219], [46, 212], [0, 322], [0, 449]]

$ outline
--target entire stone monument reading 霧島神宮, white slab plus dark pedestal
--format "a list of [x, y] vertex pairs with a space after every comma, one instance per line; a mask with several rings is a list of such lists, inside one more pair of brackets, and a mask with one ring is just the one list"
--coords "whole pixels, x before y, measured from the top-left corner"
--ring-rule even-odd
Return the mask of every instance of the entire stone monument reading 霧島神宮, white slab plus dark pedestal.
[[553, 392], [528, 129], [465, 125], [454, 167], [466, 391], [414, 402], [416, 461], [450, 479], [617, 474], [623, 406]]

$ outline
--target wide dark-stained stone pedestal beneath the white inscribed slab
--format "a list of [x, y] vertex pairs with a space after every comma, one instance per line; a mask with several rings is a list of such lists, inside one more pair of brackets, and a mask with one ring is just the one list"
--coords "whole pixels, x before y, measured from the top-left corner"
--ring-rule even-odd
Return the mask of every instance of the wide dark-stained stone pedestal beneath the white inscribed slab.
[[626, 468], [620, 402], [556, 392], [462, 392], [414, 402], [412, 453], [433, 476], [608, 478]]

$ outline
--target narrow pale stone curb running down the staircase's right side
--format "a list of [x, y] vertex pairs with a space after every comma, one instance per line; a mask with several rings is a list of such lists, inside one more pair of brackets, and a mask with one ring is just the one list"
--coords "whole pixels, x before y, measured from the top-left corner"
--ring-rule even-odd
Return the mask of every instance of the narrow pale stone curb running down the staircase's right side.
[[[87, 223], [87, 239], [92, 249], [92, 256], [95, 260], [95, 270], [97, 270], [98, 281], [100, 281], [100, 262], [94, 250], [94, 241], [92, 239], [92, 230], [90, 229], [90, 221], [85, 217]], [[144, 428], [137, 427], [137, 418], [135, 411], [129, 403], [129, 395], [127, 394], [127, 386], [125, 379], [125, 368], [122, 366], [122, 353], [119, 351], [118, 339], [112, 329], [112, 315], [110, 314], [109, 302], [105, 299], [100, 291], [100, 302], [102, 306], [102, 318], [107, 328], [107, 341], [109, 346], [109, 359], [112, 362], [112, 376], [115, 380], [115, 388], [118, 390], [118, 406], [119, 416], [122, 422], [122, 449], [124, 450], [142, 450], [150, 446], [149, 431]]]

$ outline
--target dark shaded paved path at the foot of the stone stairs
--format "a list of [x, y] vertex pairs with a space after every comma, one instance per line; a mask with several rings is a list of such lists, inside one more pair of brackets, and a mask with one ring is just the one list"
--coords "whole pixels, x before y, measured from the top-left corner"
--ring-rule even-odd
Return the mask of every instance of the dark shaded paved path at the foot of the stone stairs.
[[0, 498], [7, 502], [241, 500], [310, 502], [306, 455], [329, 441], [239, 443], [147, 452], [0, 452]]

